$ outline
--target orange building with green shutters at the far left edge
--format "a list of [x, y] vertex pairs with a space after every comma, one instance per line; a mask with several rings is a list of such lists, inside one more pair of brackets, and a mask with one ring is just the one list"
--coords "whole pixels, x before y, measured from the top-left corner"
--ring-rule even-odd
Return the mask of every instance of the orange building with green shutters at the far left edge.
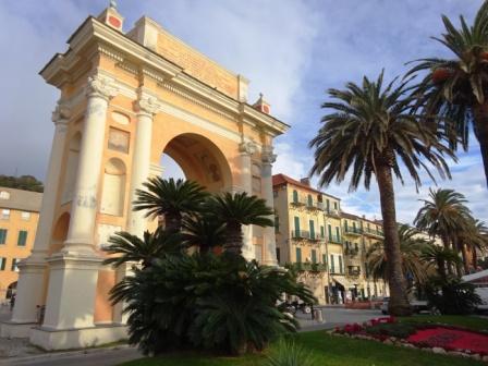
[[42, 194], [0, 187], [0, 301], [10, 298], [17, 264], [32, 251]]

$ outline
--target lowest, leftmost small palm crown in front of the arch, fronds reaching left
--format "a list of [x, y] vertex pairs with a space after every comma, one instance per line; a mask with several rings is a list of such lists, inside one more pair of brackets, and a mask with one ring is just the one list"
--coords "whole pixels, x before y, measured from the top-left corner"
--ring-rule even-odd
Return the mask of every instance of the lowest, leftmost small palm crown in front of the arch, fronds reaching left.
[[139, 263], [143, 268], [149, 267], [154, 259], [164, 253], [181, 252], [181, 239], [178, 234], [170, 234], [162, 230], [154, 233], [145, 231], [141, 240], [127, 232], [118, 232], [109, 239], [110, 245], [103, 251], [117, 256], [103, 260], [105, 265], [119, 267], [125, 263]]

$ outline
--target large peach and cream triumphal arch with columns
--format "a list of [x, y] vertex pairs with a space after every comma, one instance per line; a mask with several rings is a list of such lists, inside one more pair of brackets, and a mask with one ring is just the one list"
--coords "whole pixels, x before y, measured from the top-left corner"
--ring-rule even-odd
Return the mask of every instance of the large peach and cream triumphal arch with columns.
[[[125, 337], [108, 293], [130, 269], [103, 266], [101, 249], [117, 231], [150, 227], [131, 203], [148, 176], [164, 176], [163, 152], [209, 191], [245, 191], [272, 207], [272, 141], [288, 126], [263, 96], [248, 102], [245, 77], [149, 17], [122, 27], [112, 4], [40, 71], [60, 99], [37, 237], [20, 265], [3, 337], [29, 337], [47, 350]], [[276, 264], [273, 228], [245, 228], [244, 237], [247, 258]]]

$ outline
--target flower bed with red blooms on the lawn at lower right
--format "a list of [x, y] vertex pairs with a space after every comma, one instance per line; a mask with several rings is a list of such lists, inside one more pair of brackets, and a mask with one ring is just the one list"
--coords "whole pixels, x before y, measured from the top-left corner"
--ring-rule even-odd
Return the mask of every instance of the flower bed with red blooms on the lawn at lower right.
[[337, 327], [332, 333], [488, 362], [488, 334], [452, 326], [405, 324], [386, 317]]

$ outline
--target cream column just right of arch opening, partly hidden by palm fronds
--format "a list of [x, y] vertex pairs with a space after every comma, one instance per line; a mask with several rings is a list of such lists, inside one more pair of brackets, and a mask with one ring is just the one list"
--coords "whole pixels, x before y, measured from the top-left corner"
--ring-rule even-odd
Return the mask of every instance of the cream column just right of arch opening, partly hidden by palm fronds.
[[[241, 152], [241, 190], [248, 195], [253, 194], [253, 174], [252, 174], [252, 157], [256, 152], [256, 145], [252, 142], [242, 143], [239, 146]], [[243, 227], [244, 246], [242, 254], [247, 260], [255, 258], [253, 245], [253, 225]]]

